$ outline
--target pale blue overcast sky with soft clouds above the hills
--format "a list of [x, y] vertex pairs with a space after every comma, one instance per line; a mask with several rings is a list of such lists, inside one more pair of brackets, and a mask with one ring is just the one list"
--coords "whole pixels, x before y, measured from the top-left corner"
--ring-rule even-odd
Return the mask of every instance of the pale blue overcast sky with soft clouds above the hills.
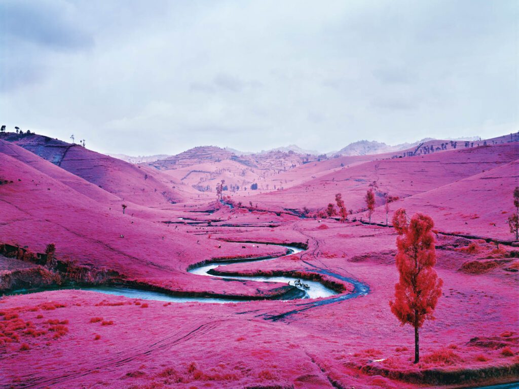
[[518, 130], [519, 2], [1, 0], [0, 122], [127, 155]]

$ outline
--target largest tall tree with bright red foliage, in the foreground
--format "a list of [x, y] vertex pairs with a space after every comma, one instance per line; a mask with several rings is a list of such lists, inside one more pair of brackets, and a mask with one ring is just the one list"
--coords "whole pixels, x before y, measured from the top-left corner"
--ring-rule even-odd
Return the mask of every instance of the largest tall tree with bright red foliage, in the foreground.
[[442, 294], [443, 281], [433, 269], [436, 263], [434, 222], [428, 215], [416, 213], [411, 221], [403, 208], [393, 215], [393, 226], [397, 230], [398, 253], [395, 262], [399, 281], [395, 285], [395, 301], [390, 301], [391, 312], [402, 325], [415, 328], [415, 361], [418, 363], [418, 329], [426, 319], [434, 319], [433, 312]]

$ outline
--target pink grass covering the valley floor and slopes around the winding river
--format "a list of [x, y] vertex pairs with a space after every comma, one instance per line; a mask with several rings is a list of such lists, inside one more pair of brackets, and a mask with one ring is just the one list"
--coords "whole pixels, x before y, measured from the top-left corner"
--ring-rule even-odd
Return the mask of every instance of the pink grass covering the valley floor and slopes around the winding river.
[[[265, 182], [286, 179], [284, 189], [224, 192], [231, 208], [214, 191], [197, 191], [193, 177], [183, 180], [210, 165], [204, 160], [155, 169], [38, 135], [4, 136], [3, 293], [76, 282], [243, 301], [171, 303], [88, 290], [6, 295], [0, 387], [396, 389], [519, 381], [519, 247], [507, 224], [519, 143], [497, 139], [423, 156], [272, 168]], [[227, 180], [242, 168], [225, 167]], [[363, 197], [374, 181], [376, 225], [367, 225]], [[353, 211], [346, 223], [300, 217], [304, 207], [308, 216], [324, 210], [339, 192]], [[389, 308], [397, 234], [383, 226], [384, 192], [400, 198], [389, 221], [400, 207], [435, 221], [435, 269], [444, 285], [435, 320], [420, 329], [416, 365], [414, 330]], [[49, 243], [56, 245], [52, 263], [30, 255]], [[307, 248], [281, 256], [285, 249], [266, 243]], [[266, 256], [281, 257], [215, 270], [320, 274], [339, 296], [354, 293], [353, 281], [369, 293], [332, 303], [283, 301], [273, 298], [293, 287], [187, 272], [203, 261]]]

